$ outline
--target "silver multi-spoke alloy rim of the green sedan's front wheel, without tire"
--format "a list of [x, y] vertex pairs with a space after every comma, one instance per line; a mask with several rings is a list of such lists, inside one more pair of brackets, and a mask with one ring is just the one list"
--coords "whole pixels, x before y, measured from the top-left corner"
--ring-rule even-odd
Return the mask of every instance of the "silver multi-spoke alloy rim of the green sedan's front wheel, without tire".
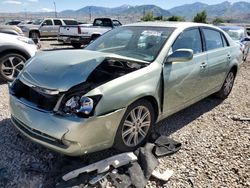
[[151, 114], [147, 107], [138, 106], [127, 115], [122, 128], [122, 139], [128, 147], [140, 144], [147, 136]]

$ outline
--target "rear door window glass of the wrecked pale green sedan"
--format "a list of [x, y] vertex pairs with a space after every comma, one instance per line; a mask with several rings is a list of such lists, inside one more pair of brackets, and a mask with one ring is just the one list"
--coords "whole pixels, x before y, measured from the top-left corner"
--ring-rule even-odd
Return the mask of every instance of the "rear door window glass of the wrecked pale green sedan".
[[213, 29], [203, 29], [207, 50], [223, 48], [221, 33]]

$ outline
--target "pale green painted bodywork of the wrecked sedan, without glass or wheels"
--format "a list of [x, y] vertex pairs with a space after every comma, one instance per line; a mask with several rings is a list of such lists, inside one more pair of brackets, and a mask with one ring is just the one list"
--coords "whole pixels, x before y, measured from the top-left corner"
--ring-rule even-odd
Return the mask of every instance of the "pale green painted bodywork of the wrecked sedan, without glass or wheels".
[[[63, 154], [77, 156], [103, 150], [113, 146], [118, 126], [127, 107], [138, 99], [147, 97], [154, 101], [158, 122], [219, 91], [230, 69], [239, 66], [239, 47], [216, 27], [195, 23], [149, 22], [120, 27], [119, 30], [122, 32], [123, 29], [140, 27], [147, 31], [144, 36], [156, 37], [159, 36], [158, 31], [161, 28], [171, 28], [157, 55], [151, 57], [146, 54], [145, 58], [136, 58], [132, 55], [111, 53], [110, 49], [108, 52], [91, 50], [108, 36], [108, 32], [90, 44], [87, 50], [44, 52], [32, 58], [17, 80], [29, 87], [56, 91], [62, 95], [53, 111], [46, 111], [22, 98], [17, 98], [11, 92], [10, 86], [13, 124], [33, 141]], [[152, 32], [155, 27], [156, 32]], [[203, 27], [223, 33], [228, 46], [203, 50], [194, 54], [188, 61], [167, 62], [171, 46], [183, 31]], [[123, 44], [123, 38], [120, 39], [118, 42]], [[141, 38], [137, 47], [144, 47], [144, 38]], [[58, 114], [57, 110], [67, 92], [76, 85], [84, 84], [93, 71], [107, 59], [111, 59], [111, 63], [113, 60], [129, 62], [129, 65], [139, 68], [97, 84], [85, 92], [86, 97], [101, 96], [90, 117]], [[12, 85], [15, 85], [17, 80]]]

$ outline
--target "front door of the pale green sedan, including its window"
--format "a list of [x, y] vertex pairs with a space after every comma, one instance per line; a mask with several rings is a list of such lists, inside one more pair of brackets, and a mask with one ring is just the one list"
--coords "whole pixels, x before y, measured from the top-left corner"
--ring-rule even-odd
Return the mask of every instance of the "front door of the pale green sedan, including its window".
[[169, 115], [198, 101], [202, 95], [200, 85], [201, 64], [207, 64], [199, 28], [184, 30], [176, 39], [169, 52], [178, 49], [192, 49], [193, 59], [187, 62], [172, 62], [164, 65], [164, 114]]

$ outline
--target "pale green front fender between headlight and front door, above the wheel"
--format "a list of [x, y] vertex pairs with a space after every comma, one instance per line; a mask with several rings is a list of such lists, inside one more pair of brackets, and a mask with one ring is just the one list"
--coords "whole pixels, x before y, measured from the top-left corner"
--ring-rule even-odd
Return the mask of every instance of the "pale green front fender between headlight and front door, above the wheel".
[[95, 115], [126, 108], [145, 96], [154, 97], [160, 106], [161, 69], [161, 64], [155, 62], [88, 92], [86, 96], [103, 96], [96, 106]]

